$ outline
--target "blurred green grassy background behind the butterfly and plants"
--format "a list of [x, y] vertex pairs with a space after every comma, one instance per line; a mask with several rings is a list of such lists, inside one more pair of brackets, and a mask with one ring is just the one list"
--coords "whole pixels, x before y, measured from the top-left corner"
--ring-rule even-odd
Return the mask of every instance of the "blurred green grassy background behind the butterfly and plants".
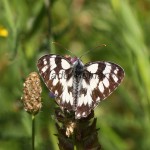
[[[126, 73], [95, 109], [104, 150], [150, 150], [150, 0], [0, 0], [0, 150], [31, 149], [31, 116], [22, 107], [23, 82], [45, 53], [83, 62], [105, 60]], [[36, 150], [57, 150], [55, 103], [42, 84]]]

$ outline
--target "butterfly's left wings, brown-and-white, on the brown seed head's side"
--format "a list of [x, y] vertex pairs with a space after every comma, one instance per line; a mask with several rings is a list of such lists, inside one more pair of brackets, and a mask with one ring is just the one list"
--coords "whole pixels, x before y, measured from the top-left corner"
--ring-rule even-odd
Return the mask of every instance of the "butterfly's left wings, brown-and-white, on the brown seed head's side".
[[55, 95], [59, 106], [72, 110], [72, 64], [60, 55], [45, 55], [38, 60], [37, 67], [48, 89]]

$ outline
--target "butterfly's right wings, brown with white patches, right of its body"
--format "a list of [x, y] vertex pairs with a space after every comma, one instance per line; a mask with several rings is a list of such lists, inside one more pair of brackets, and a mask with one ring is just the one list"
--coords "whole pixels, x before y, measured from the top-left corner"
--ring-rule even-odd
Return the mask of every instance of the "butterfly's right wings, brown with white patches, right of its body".
[[85, 64], [76, 118], [88, 116], [100, 101], [118, 87], [123, 78], [124, 70], [112, 62], [97, 61]]

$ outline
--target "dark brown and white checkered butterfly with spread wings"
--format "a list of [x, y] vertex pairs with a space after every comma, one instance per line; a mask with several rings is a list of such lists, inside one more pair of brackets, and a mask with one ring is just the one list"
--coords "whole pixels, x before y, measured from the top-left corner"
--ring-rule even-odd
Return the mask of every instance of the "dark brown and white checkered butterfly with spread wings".
[[95, 61], [83, 64], [80, 58], [49, 54], [37, 67], [62, 110], [75, 112], [75, 119], [87, 117], [100, 101], [122, 82], [124, 70], [117, 64]]

